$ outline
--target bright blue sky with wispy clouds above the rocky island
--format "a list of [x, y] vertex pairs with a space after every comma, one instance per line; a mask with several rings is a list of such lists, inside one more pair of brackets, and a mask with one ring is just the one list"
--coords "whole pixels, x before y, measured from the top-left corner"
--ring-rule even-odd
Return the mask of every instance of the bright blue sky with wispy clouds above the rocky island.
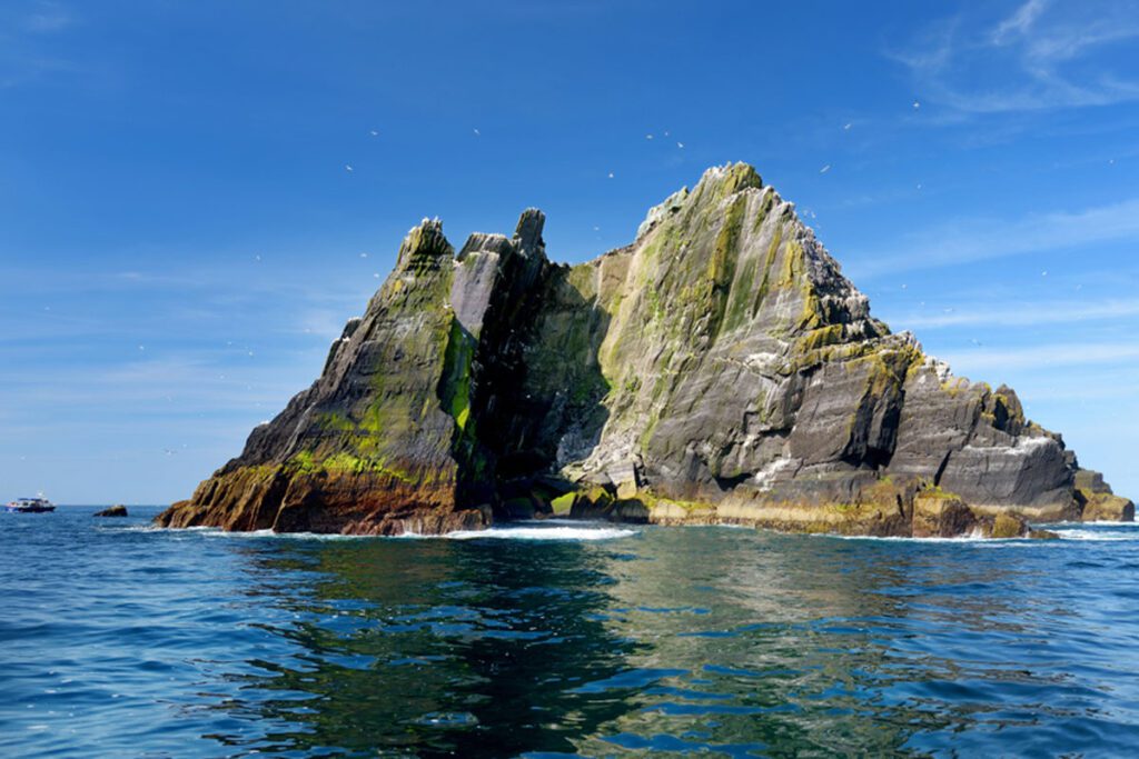
[[1116, 1], [7, 0], [0, 500], [186, 497], [424, 216], [580, 262], [729, 160], [1134, 497], [1137, 49]]

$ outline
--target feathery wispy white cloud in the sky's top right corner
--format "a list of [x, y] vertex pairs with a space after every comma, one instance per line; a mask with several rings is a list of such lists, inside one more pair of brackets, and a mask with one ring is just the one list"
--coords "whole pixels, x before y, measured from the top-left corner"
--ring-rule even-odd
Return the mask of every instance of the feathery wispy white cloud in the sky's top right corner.
[[970, 6], [928, 27], [916, 44], [888, 53], [910, 69], [926, 99], [958, 114], [1139, 99], [1139, 72], [1113, 71], [1093, 55], [1139, 38], [1139, 3], [1027, 0], [995, 24], [977, 18], [984, 8]]

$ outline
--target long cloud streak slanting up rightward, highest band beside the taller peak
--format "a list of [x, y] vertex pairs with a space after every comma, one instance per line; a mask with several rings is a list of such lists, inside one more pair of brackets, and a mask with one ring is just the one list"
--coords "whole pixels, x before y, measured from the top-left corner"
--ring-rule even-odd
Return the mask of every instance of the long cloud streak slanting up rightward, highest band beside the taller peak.
[[910, 236], [899, 249], [857, 255], [850, 269], [855, 277], [874, 277], [1118, 241], [1139, 241], [1139, 198], [1013, 221], [975, 218], [942, 224]]

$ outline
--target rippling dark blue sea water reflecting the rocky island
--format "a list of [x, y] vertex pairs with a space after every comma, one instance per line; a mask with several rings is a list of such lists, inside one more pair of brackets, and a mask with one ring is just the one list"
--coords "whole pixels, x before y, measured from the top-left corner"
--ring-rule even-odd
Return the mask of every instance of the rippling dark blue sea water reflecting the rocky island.
[[[0, 756], [1137, 756], [1139, 528], [0, 514]], [[458, 538], [458, 539], [456, 539]]]

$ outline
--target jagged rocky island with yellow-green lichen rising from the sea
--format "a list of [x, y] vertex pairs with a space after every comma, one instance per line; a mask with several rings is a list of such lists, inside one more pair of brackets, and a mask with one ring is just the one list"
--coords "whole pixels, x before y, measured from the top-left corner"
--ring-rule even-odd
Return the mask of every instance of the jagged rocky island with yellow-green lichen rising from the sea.
[[437, 221], [412, 229], [320, 379], [159, 523], [398, 534], [568, 512], [911, 535], [1133, 514], [1077, 482], [1013, 390], [875, 320], [751, 166], [710, 170], [587, 264], [551, 264], [542, 223], [527, 211], [458, 255]]

